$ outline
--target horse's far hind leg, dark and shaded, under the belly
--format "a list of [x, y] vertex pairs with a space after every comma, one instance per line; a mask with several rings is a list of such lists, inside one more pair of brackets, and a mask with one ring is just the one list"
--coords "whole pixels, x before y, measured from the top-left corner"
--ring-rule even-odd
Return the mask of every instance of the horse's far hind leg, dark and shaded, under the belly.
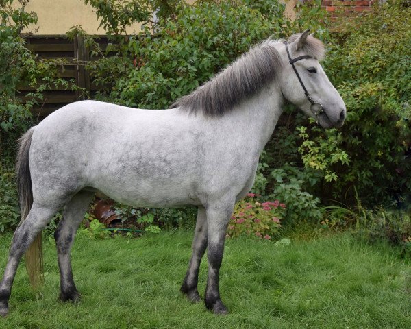
[[73, 280], [70, 250], [73, 245], [75, 232], [79, 227], [84, 213], [90, 204], [94, 193], [80, 191], [64, 207], [63, 217], [54, 232], [57, 247], [58, 267], [60, 268], [60, 300], [77, 302], [79, 293]]

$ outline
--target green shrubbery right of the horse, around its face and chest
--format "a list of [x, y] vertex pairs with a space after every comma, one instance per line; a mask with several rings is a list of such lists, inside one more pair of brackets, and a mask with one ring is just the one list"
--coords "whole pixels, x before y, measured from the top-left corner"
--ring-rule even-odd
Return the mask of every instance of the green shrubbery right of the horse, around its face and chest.
[[[256, 191], [276, 193], [288, 209], [292, 206], [284, 195], [298, 200], [300, 191], [316, 201], [308, 202], [308, 210], [314, 211], [320, 209], [320, 202], [352, 208], [356, 193], [370, 208], [407, 206], [411, 197], [411, 162], [406, 156], [411, 147], [411, 12], [401, 3], [376, 5], [361, 16], [340, 17], [329, 34], [330, 25], [315, 8], [311, 12], [310, 6], [303, 5], [294, 24], [305, 27], [310, 15], [319, 16], [316, 21], [322, 25], [328, 49], [323, 67], [345, 100], [347, 122], [341, 130], [323, 132], [300, 114], [286, 111], [286, 125], [277, 128], [262, 154], [264, 166], [258, 170]], [[301, 210], [296, 213], [304, 215]], [[314, 218], [319, 217], [317, 212]]]

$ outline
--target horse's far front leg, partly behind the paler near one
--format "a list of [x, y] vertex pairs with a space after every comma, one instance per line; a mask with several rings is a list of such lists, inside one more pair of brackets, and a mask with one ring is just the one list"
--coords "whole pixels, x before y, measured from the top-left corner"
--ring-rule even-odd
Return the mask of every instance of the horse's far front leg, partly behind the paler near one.
[[197, 290], [199, 281], [199, 267], [201, 258], [207, 248], [207, 220], [206, 210], [203, 206], [199, 206], [197, 212], [197, 223], [195, 226], [194, 239], [192, 241], [192, 256], [188, 264], [186, 278], [181, 287], [182, 293], [185, 293], [192, 302], [199, 302], [201, 297]]

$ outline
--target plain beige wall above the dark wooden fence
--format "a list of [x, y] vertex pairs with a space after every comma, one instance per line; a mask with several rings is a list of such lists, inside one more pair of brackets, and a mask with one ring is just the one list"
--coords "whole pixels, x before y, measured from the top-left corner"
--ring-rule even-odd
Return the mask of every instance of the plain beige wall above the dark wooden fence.
[[[292, 8], [297, 0], [284, 0], [286, 13], [290, 18], [294, 17]], [[14, 0], [18, 5], [18, 1]], [[195, 2], [189, 0], [189, 3]], [[97, 16], [90, 5], [85, 5], [84, 0], [30, 0], [27, 11], [37, 13], [38, 23], [31, 29], [38, 28], [35, 34], [65, 34], [73, 25], [82, 25], [88, 34], [105, 34], [102, 27], [99, 28]], [[138, 32], [140, 25], [136, 24], [127, 30], [128, 34]], [[25, 31], [29, 32], [29, 31]]]

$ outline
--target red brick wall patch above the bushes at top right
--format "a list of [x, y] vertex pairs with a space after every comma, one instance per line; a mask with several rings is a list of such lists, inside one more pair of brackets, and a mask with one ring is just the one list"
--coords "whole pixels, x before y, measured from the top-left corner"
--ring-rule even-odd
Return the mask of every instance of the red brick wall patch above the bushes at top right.
[[333, 21], [336, 21], [340, 16], [349, 16], [372, 10], [373, 3], [375, 3], [375, 0], [323, 0], [321, 1], [321, 7], [331, 14]]

